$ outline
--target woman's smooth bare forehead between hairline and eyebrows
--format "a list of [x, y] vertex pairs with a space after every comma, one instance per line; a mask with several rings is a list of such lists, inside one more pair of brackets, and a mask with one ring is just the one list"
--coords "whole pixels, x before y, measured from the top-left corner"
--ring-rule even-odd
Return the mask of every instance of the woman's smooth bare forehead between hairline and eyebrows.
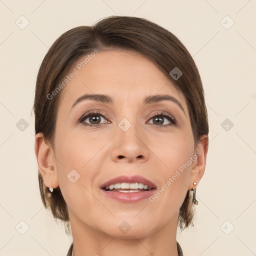
[[[109, 50], [80, 57], [70, 71], [76, 73], [65, 85], [60, 105], [72, 105], [84, 93], [111, 95], [123, 103], [142, 101], [146, 95], [170, 94], [185, 106], [185, 99], [152, 61], [134, 51]], [[86, 60], [86, 61], [85, 61]]]

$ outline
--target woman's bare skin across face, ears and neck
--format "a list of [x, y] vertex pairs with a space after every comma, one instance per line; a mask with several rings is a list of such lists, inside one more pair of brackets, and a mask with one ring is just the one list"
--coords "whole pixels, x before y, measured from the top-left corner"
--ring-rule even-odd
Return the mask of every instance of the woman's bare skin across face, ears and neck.
[[[200, 181], [208, 149], [206, 135], [194, 148], [182, 93], [146, 57], [124, 50], [97, 53], [62, 90], [54, 148], [40, 132], [35, 154], [45, 185], [59, 186], [67, 203], [74, 254], [177, 256], [179, 207], [187, 190], [195, 187], [193, 182]], [[84, 100], [70, 110], [85, 93], [107, 94], [114, 102]], [[168, 100], [143, 106], [144, 97], [155, 94], [175, 97], [184, 112]], [[94, 109], [107, 114], [99, 117], [105, 124], [77, 124], [85, 112]], [[153, 124], [155, 117], [148, 116], [160, 110], [172, 115], [176, 125], [166, 126], [171, 122], [164, 116], [164, 123]], [[123, 118], [131, 124], [127, 131], [118, 127]], [[89, 118], [83, 122], [93, 123]], [[122, 203], [100, 191], [100, 184], [122, 174], [144, 176], [159, 189], [196, 151], [200, 156], [153, 202], [147, 198]], [[80, 174], [74, 183], [66, 177], [72, 169]], [[131, 227], [125, 234], [118, 228], [123, 221]]]

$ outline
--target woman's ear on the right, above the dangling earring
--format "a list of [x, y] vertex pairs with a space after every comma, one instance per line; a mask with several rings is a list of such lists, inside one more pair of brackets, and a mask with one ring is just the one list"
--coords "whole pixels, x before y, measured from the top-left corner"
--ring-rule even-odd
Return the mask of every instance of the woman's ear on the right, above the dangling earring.
[[[190, 172], [188, 190], [197, 186], [204, 174], [206, 165], [206, 155], [208, 152], [208, 143], [209, 141], [207, 134], [202, 135], [194, 152], [194, 154], [197, 155], [197, 158], [194, 161], [193, 167]], [[193, 182], [196, 182], [196, 185], [193, 185]]]

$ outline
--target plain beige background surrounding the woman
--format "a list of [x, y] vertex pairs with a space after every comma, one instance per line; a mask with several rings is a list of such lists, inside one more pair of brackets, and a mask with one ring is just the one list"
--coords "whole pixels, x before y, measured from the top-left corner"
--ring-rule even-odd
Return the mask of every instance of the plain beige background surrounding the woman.
[[35, 79], [60, 34], [115, 13], [174, 33], [203, 81], [210, 143], [195, 225], [177, 233], [184, 255], [256, 255], [255, 0], [0, 0], [0, 255], [67, 253], [72, 238], [39, 195], [30, 116]]

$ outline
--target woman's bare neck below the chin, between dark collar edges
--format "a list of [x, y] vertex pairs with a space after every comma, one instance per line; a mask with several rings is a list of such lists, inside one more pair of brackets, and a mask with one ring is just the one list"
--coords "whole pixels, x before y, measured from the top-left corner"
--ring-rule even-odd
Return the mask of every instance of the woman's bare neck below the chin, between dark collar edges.
[[[107, 234], [76, 218], [69, 212], [70, 226], [73, 237], [72, 256], [100, 255], [100, 256], [178, 256], [176, 245], [177, 217], [166, 225], [153, 231], [147, 229], [144, 234], [131, 228], [125, 235], [120, 235], [119, 229], [114, 234]], [[111, 230], [110, 230], [111, 231]]]

